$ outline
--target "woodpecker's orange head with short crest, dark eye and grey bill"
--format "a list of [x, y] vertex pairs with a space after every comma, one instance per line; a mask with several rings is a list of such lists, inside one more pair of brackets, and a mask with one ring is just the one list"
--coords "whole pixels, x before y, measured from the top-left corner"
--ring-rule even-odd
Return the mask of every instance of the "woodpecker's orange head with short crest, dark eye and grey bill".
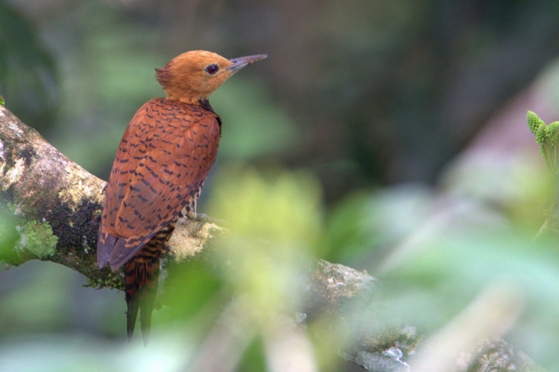
[[226, 59], [205, 50], [192, 50], [156, 68], [167, 98], [185, 103], [207, 100], [215, 89], [241, 68], [268, 57], [266, 54]]

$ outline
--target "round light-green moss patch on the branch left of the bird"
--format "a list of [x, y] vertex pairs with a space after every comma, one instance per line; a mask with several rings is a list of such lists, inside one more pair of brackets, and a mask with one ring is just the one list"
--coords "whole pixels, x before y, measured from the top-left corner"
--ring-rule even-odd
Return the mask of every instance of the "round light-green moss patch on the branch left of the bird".
[[21, 230], [19, 251], [33, 253], [38, 258], [48, 258], [56, 252], [58, 237], [53, 234], [48, 222], [29, 221]]

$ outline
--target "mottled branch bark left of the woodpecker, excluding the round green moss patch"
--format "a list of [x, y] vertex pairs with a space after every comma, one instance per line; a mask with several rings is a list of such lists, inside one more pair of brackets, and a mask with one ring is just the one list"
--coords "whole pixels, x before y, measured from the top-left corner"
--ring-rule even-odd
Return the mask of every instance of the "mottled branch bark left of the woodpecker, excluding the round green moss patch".
[[[0, 107], [0, 185], [6, 205], [25, 222], [48, 223], [58, 237], [52, 255], [29, 255], [20, 245], [6, 260], [20, 265], [29, 258], [61, 263], [89, 278], [113, 281], [118, 275], [96, 267], [95, 245], [105, 183], [70, 161], [25, 126], [5, 107]], [[26, 234], [25, 229], [20, 230]]]

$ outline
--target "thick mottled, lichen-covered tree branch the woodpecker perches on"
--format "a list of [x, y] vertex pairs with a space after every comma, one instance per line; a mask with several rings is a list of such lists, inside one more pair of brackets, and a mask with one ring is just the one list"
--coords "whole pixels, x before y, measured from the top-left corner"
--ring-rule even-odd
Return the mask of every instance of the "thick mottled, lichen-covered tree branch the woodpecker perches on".
[[[96, 265], [105, 184], [0, 105], [0, 205], [16, 216], [20, 235], [12, 251], [0, 260], [8, 265], [50, 260], [79, 271], [96, 287], [122, 289], [122, 271], [113, 273]], [[169, 241], [175, 265], [200, 255], [212, 234], [220, 230], [224, 232], [214, 223], [177, 223]], [[313, 322], [324, 319], [342, 329], [340, 346], [346, 350], [340, 351], [341, 357], [367, 371], [409, 370], [405, 362], [421, 350], [421, 337], [411, 325], [380, 332], [378, 325], [370, 325], [371, 307], [379, 303], [375, 278], [320, 260], [305, 288], [305, 308], [298, 320], [308, 324], [311, 332]], [[465, 350], [456, 361], [457, 371], [511, 369], [539, 371], [528, 357], [501, 340], [486, 341], [479, 350]]]

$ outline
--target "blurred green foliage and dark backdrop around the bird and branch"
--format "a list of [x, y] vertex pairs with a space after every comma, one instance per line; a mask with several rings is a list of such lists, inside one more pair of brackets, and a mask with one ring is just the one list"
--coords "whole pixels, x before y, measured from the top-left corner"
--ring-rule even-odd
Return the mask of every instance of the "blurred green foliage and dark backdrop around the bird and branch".
[[[154, 68], [269, 55], [211, 97], [223, 137], [199, 209], [231, 224], [215, 260], [233, 269], [185, 270], [147, 349], [124, 341], [122, 293], [48, 262], [3, 271], [0, 369], [182, 371], [231, 297], [253, 310], [231, 338], [238, 370], [272, 369], [266, 317], [300, 305], [293, 281], [317, 257], [381, 278], [370, 318], [423, 334], [504, 282], [523, 309], [505, 338], [559, 369], [557, 244], [530, 241], [553, 185], [525, 124], [559, 117], [558, 36], [551, 0], [0, 0], [6, 107], [103, 179], [163, 94]], [[351, 369], [312, 340], [317, 368]]]

